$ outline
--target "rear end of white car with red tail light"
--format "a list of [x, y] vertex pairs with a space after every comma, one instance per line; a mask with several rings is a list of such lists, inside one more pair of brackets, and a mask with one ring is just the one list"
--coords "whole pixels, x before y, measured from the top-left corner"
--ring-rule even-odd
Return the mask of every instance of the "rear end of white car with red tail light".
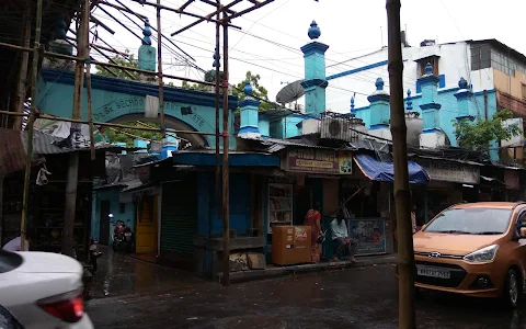
[[0, 305], [25, 329], [92, 329], [82, 273], [82, 265], [64, 254], [0, 250]]

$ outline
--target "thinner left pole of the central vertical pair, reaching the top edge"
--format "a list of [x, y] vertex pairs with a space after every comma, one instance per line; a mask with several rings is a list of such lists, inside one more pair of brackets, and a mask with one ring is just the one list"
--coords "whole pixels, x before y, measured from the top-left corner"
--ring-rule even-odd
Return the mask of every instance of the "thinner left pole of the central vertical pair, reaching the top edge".
[[[219, 8], [220, 2], [217, 1], [217, 10], [218, 13], [216, 15], [217, 21], [219, 21]], [[220, 167], [220, 154], [219, 154], [219, 111], [220, 111], [220, 100], [219, 100], [219, 83], [220, 83], [220, 69], [219, 69], [219, 31], [221, 25], [219, 22], [216, 23], [216, 53], [214, 63], [216, 64], [216, 207], [217, 207], [217, 219], [219, 220], [222, 217], [221, 208], [219, 205], [221, 204], [221, 167]], [[210, 216], [211, 217], [211, 216]], [[210, 227], [213, 226], [210, 222]], [[211, 229], [211, 228], [210, 228]]]

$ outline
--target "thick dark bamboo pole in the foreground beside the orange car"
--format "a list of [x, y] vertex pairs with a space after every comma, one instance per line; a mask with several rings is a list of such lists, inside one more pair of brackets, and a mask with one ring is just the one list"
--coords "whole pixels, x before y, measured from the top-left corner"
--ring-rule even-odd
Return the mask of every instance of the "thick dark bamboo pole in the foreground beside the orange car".
[[400, 0], [386, 0], [388, 23], [388, 69], [391, 105], [391, 135], [395, 162], [395, 205], [398, 226], [399, 322], [401, 329], [415, 329], [414, 250], [410, 209], [408, 145], [403, 109]]

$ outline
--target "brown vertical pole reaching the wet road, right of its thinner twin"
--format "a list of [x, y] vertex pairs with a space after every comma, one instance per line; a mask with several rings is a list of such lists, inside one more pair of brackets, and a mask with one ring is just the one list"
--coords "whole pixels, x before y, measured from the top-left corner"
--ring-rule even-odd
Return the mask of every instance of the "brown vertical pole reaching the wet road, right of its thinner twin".
[[230, 285], [230, 197], [228, 186], [228, 19], [226, 13], [224, 13], [222, 22], [222, 220], [225, 223], [222, 237], [222, 284], [228, 286]]

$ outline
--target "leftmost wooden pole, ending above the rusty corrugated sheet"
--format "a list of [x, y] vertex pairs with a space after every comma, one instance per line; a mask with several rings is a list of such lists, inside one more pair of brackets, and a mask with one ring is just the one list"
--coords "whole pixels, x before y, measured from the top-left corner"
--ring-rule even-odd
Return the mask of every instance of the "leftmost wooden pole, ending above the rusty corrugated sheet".
[[[24, 43], [23, 46], [28, 48], [31, 43], [31, 1], [26, 1], [26, 10], [24, 12]], [[22, 60], [20, 61], [20, 73], [19, 73], [19, 91], [16, 99], [16, 112], [24, 112], [24, 102], [27, 91], [27, 66], [30, 61], [30, 53], [22, 53]], [[16, 117], [14, 120], [13, 128], [16, 131], [22, 129], [22, 117]]]

